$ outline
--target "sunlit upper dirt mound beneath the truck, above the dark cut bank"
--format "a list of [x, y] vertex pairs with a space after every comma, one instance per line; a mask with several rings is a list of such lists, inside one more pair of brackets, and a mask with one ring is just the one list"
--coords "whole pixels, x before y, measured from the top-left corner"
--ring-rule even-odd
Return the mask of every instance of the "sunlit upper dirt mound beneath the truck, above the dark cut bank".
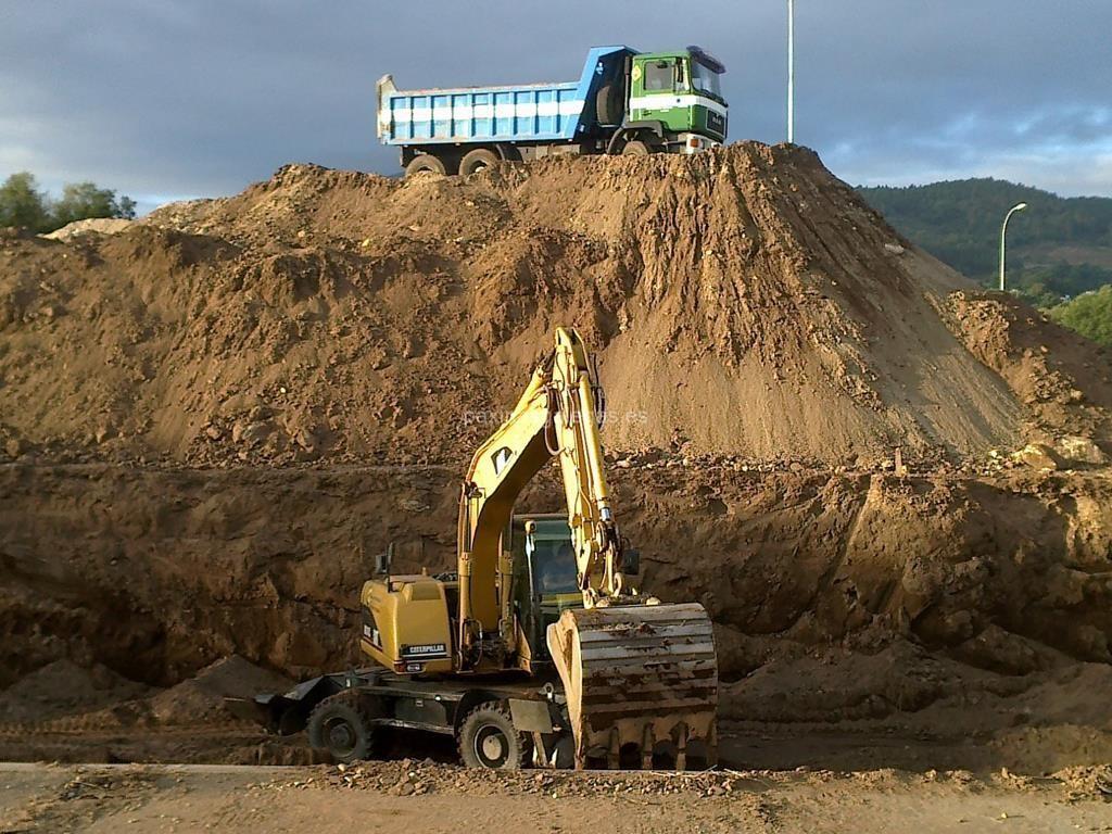
[[616, 450], [868, 463], [1110, 437], [1106, 357], [971, 294], [812, 152], [743, 143], [409, 182], [290, 166], [112, 237], [9, 237], [0, 439], [456, 463], [557, 324], [599, 350]]

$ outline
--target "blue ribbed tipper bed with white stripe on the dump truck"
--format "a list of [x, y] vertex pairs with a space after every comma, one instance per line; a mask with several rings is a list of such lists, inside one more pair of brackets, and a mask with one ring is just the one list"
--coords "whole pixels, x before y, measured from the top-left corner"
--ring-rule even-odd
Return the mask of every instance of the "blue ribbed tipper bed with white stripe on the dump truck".
[[397, 90], [379, 82], [378, 131], [387, 145], [475, 141], [559, 141], [587, 132], [603, 69], [634, 54], [628, 47], [595, 47], [578, 81], [564, 83]]

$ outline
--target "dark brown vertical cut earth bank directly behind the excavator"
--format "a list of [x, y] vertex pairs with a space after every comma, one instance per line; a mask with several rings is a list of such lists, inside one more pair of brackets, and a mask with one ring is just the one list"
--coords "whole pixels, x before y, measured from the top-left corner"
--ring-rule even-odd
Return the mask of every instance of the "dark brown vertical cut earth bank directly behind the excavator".
[[[356, 659], [358, 588], [454, 559], [443, 467], [0, 469], [0, 668], [66, 657], [169, 685], [228, 654], [292, 677]], [[555, 509], [554, 484], [526, 500]], [[1104, 477], [959, 479], [619, 469], [642, 582], [701, 600], [724, 681], [792, 646], [900, 635], [970, 663], [1039, 667], [1029, 642], [1108, 662]], [[987, 635], [987, 636], [985, 636]]]

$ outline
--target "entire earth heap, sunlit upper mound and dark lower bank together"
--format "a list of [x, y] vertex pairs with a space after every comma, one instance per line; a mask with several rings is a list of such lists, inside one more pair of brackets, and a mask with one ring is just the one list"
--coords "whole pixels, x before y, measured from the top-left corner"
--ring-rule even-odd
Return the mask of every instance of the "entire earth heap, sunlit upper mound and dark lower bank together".
[[[1112, 749], [1081, 697], [1112, 659], [1108, 355], [755, 143], [290, 166], [113, 235], [4, 232], [0, 711], [181, 731], [286, 688], [251, 664], [356, 662], [375, 555], [453, 564], [461, 463], [562, 324], [600, 358], [639, 584], [715, 622], [725, 718]], [[558, 496], [547, 473], [523, 506]], [[102, 705], [60, 658], [172, 688]], [[73, 704], [20, 695], [59, 674]]]

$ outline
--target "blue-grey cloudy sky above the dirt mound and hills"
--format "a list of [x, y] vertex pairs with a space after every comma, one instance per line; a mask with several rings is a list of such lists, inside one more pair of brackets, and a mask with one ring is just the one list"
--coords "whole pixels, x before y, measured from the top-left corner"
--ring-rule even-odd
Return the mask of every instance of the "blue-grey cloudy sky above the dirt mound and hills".
[[[574, 80], [603, 43], [703, 46], [729, 140], [785, 138], [785, 0], [0, 0], [0, 178], [143, 210], [294, 161], [395, 173], [383, 73]], [[796, 0], [795, 138], [854, 185], [1112, 197], [1112, 0]]]

